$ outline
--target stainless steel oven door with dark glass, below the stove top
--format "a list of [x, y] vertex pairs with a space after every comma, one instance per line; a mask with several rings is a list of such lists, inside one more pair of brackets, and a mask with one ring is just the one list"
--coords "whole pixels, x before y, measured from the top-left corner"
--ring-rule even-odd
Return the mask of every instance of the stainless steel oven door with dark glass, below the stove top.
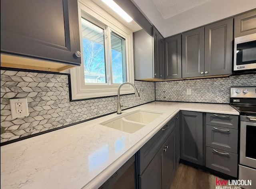
[[256, 169], [256, 117], [240, 117], [240, 164]]

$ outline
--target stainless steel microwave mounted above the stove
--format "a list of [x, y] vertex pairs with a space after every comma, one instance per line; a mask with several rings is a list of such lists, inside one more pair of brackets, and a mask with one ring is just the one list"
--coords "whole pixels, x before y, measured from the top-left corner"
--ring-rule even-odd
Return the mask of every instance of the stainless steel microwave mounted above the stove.
[[234, 39], [233, 71], [256, 71], [256, 33]]

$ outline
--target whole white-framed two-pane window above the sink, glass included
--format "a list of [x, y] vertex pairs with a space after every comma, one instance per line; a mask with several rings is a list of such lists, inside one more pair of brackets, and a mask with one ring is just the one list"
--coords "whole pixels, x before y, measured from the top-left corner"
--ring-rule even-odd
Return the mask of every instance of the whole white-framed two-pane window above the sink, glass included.
[[[134, 83], [132, 31], [90, 0], [78, 1], [80, 67], [71, 69], [72, 100], [117, 95]], [[124, 85], [121, 94], [134, 93]]]

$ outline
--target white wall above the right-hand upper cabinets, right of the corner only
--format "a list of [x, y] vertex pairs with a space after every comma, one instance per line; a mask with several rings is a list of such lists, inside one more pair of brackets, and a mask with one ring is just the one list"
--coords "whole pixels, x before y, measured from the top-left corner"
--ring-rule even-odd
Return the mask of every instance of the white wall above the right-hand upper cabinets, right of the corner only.
[[211, 0], [165, 20], [164, 37], [256, 8], [256, 0]]

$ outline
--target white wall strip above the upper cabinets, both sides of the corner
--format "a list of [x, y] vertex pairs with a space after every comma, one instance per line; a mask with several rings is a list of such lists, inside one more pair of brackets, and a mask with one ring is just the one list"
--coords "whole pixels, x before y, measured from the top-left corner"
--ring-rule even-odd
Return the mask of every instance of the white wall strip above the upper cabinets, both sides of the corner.
[[133, 1], [164, 37], [256, 8], [256, 0], [211, 0], [164, 20], [152, 0]]

